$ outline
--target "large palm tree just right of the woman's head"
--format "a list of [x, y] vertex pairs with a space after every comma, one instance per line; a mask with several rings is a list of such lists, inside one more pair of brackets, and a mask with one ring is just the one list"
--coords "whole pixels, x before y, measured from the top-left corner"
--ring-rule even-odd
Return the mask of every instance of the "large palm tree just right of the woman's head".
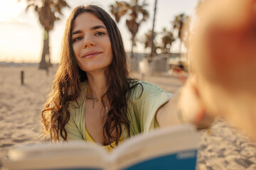
[[134, 57], [133, 48], [136, 46], [135, 38], [142, 22], [149, 18], [149, 12], [146, 11], [146, 0], [139, 5], [139, 0], [131, 0], [130, 3], [125, 1], [115, 1], [115, 4], [110, 5], [110, 12], [114, 15], [115, 21], [119, 23], [122, 16], [128, 15], [126, 25], [129, 32], [132, 34], [132, 50], [131, 58]]

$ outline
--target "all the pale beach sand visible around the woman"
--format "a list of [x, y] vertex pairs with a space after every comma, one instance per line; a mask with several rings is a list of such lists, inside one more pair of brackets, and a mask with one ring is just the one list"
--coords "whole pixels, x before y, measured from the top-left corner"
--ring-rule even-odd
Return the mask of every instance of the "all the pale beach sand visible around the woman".
[[[53, 83], [56, 67], [0, 67], [0, 169], [1, 160], [16, 145], [43, 142], [41, 110]], [[21, 85], [21, 71], [24, 84]], [[140, 75], [133, 73], [134, 77]], [[182, 83], [176, 74], [146, 75], [146, 81], [173, 93]], [[197, 169], [256, 169], [256, 145], [241, 132], [217, 119], [210, 130], [201, 132]]]

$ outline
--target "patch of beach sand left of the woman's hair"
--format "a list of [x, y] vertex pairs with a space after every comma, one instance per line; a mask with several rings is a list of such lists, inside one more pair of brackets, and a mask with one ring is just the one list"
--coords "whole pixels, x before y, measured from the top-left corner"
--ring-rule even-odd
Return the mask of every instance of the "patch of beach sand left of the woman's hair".
[[36, 137], [41, 135], [41, 109], [54, 74], [53, 69], [47, 76], [35, 67], [0, 67], [0, 159], [7, 159], [15, 145], [43, 141]]

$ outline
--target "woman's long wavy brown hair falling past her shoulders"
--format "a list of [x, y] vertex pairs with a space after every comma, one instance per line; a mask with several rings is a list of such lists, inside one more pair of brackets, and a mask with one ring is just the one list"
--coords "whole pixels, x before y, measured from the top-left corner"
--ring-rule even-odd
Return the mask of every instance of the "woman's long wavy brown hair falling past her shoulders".
[[[50, 98], [46, 102], [46, 108], [41, 113], [44, 127], [44, 135], [50, 135], [50, 140], [58, 141], [59, 135], [67, 140], [65, 125], [70, 119], [68, 105], [70, 101], [77, 101], [80, 96], [81, 82], [87, 79], [75, 60], [72, 47], [71, 31], [75, 18], [81, 13], [90, 12], [97, 16], [106, 26], [112, 43], [113, 59], [107, 72], [106, 96], [110, 102], [110, 111], [105, 117], [104, 137], [108, 142], [114, 140], [116, 144], [122, 135], [122, 125], [130, 133], [127, 102], [132, 89], [127, 69], [127, 56], [124, 51], [122, 36], [117, 24], [110, 15], [99, 6], [78, 6], [73, 10], [65, 25], [65, 33], [62, 42], [61, 60], [58, 72], [55, 75], [53, 89]], [[114, 136], [112, 132], [115, 130]]]

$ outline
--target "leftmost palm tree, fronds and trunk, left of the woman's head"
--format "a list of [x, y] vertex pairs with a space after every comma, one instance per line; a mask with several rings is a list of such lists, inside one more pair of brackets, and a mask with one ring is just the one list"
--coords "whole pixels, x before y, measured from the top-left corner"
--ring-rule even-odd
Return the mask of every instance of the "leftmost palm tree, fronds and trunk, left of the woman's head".
[[[19, 0], [21, 1], [21, 0]], [[58, 16], [63, 16], [62, 10], [68, 6], [65, 0], [26, 0], [27, 7], [33, 8], [38, 14], [39, 22], [43, 26], [43, 52], [39, 69], [48, 69], [50, 66], [50, 47], [49, 47], [49, 32], [53, 30], [55, 21], [60, 20]], [[48, 58], [48, 61], [46, 61]]]

